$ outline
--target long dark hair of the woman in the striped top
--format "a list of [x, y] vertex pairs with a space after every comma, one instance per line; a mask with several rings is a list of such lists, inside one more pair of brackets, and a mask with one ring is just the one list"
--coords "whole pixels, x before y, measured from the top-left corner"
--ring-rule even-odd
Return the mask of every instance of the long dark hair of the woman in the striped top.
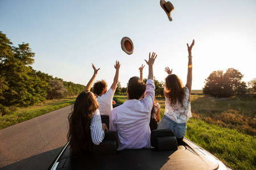
[[67, 138], [70, 151], [75, 155], [90, 153], [92, 137], [90, 124], [93, 113], [98, 109], [98, 103], [92, 92], [86, 90], [77, 96], [73, 112], [69, 114], [69, 130]]

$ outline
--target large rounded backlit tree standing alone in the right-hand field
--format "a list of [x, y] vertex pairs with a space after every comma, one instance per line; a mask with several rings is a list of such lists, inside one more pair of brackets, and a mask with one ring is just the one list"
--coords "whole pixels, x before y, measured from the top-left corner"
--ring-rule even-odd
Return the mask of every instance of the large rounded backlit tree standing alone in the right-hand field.
[[246, 84], [241, 82], [243, 75], [240, 71], [229, 68], [226, 73], [222, 70], [213, 71], [207, 79], [203, 93], [214, 97], [231, 97], [246, 93]]

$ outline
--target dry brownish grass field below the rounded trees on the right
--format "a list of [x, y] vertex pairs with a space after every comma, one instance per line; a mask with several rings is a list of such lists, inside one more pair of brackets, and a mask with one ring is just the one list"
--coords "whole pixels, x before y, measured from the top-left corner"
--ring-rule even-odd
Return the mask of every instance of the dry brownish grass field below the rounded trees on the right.
[[191, 111], [194, 118], [224, 128], [236, 129], [256, 136], [256, 99], [233, 97], [216, 101], [208, 96], [191, 96]]

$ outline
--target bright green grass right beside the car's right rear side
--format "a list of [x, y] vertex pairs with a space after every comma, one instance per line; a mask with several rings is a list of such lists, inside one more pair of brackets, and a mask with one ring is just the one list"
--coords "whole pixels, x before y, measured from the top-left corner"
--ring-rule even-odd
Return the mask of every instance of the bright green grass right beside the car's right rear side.
[[188, 120], [185, 137], [233, 169], [256, 169], [255, 137], [195, 118]]

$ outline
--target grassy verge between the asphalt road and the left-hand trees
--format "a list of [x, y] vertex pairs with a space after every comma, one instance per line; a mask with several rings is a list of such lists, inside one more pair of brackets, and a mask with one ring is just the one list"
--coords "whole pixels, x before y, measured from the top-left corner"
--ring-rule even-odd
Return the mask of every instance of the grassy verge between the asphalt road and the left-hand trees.
[[16, 108], [16, 111], [0, 117], [0, 129], [67, 107], [74, 104], [75, 100], [76, 97], [69, 97], [66, 99], [48, 100], [33, 107]]

